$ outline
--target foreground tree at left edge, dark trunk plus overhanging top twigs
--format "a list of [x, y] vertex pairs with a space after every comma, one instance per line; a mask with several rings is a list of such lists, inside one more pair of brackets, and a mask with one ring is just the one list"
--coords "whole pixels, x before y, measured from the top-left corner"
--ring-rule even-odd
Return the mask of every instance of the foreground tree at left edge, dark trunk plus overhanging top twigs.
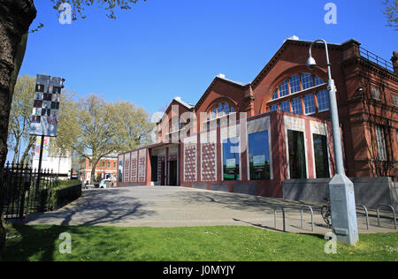
[[[115, 18], [114, 9], [131, 9], [130, 4], [138, 0], [51, 0], [53, 8], [63, 3], [69, 3], [73, 7], [73, 19], [78, 15], [84, 19], [83, 11], [86, 6], [103, 8], [108, 12], [107, 16]], [[145, 0], [144, 0], [145, 1]], [[0, 172], [4, 170], [4, 162], [7, 158], [8, 121], [10, 117], [11, 100], [15, 83], [19, 75], [19, 69], [27, 49], [27, 34], [29, 27], [36, 17], [34, 0], [2, 0], [0, 3]], [[1, 176], [0, 176], [1, 177]], [[0, 181], [0, 191], [4, 187]], [[1, 192], [0, 192], [1, 193]], [[0, 210], [2, 200], [0, 199]], [[3, 213], [0, 212], [3, 216]], [[3, 218], [3, 217], [2, 217]], [[3, 260], [5, 244], [5, 229], [0, 223], [0, 260]]]

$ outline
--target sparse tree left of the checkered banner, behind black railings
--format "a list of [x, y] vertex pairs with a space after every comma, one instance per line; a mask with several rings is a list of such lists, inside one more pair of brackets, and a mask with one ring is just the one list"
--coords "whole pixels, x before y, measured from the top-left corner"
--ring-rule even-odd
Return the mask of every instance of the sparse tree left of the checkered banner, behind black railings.
[[9, 146], [13, 146], [14, 157], [12, 162], [18, 161], [19, 146], [22, 141], [27, 141], [27, 148], [24, 152], [23, 160], [26, 154], [32, 148], [32, 142], [35, 137], [29, 136], [28, 130], [31, 123], [32, 105], [34, 102], [34, 77], [27, 75], [19, 77], [15, 86], [11, 102], [10, 121], [8, 126]]

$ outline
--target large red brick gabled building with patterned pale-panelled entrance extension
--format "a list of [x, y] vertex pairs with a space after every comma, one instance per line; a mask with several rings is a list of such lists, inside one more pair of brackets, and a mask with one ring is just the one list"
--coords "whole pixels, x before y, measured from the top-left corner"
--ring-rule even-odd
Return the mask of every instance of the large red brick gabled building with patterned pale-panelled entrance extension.
[[[174, 99], [157, 144], [119, 155], [119, 185], [282, 197], [286, 180], [333, 177], [325, 46], [314, 45], [310, 71], [310, 43], [285, 41], [250, 83], [219, 75], [199, 102]], [[397, 181], [397, 54], [391, 63], [354, 40], [328, 47], [348, 177]]]

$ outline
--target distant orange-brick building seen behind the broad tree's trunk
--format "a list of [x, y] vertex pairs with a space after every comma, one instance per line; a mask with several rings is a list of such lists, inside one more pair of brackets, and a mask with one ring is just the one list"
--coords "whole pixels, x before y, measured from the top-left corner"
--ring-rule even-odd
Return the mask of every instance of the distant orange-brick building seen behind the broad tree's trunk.
[[[80, 160], [80, 180], [90, 181], [91, 170], [93, 169], [91, 162], [87, 158]], [[118, 155], [107, 155], [96, 164], [95, 180], [116, 176], [118, 170]]]

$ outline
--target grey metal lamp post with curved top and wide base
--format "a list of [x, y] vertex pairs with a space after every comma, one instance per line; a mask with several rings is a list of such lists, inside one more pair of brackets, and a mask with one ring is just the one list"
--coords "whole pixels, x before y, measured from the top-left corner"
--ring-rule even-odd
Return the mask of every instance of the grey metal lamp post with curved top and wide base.
[[344, 170], [341, 130], [339, 113], [337, 109], [336, 87], [332, 79], [331, 65], [329, 61], [329, 52], [325, 40], [313, 41], [310, 45], [310, 57], [307, 60], [307, 66], [312, 71], [317, 63], [312, 57], [312, 46], [317, 42], [325, 44], [326, 64], [327, 64], [327, 91], [330, 100], [330, 113], [333, 129], [333, 150], [336, 164], [336, 174], [329, 183], [329, 199], [332, 210], [333, 233], [339, 242], [347, 245], [356, 245], [358, 238], [358, 228], [356, 222], [356, 201], [354, 193], [354, 184], [348, 179]]

